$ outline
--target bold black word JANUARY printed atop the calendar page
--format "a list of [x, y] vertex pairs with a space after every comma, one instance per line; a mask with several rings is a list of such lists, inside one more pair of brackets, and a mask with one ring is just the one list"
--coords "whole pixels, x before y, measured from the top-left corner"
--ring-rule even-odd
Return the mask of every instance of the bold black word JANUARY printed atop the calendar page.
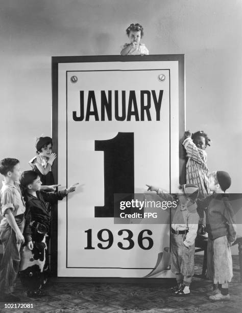
[[[94, 117], [95, 121], [112, 121], [112, 119], [115, 119], [116, 121], [131, 121], [131, 117], [134, 117], [135, 121], [144, 121], [145, 116], [148, 121], [151, 121], [150, 109], [152, 105], [155, 107], [156, 121], [160, 121], [163, 90], [159, 91], [158, 98], [155, 90], [141, 90], [139, 92], [139, 98], [136, 97], [137, 92], [132, 90], [122, 92], [109, 90], [107, 93], [102, 90], [100, 93], [101, 94], [96, 97], [93, 90], [88, 91], [85, 105], [84, 91], [80, 91], [80, 110], [78, 113], [77, 111], [72, 111], [74, 121], [89, 121], [91, 116]], [[114, 93], [114, 95], [112, 95], [112, 93]], [[120, 93], [121, 97], [119, 97]], [[97, 102], [96, 99], [100, 99], [100, 103]], [[137, 99], [140, 101], [137, 101]], [[101, 119], [98, 107], [100, 108]]]

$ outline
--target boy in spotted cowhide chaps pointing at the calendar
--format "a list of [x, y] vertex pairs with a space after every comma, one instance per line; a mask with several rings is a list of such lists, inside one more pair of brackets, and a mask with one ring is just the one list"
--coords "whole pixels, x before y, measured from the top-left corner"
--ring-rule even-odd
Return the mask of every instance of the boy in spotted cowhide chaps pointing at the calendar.
[[27, 295], [37, 298], [46, 296], [41, 287], [46, 282], [49, 270], [47, 238], [50, 238], [51, 214], [46, 202], [57, 203], [68, 193], [74, 192], [78, 184], [55, 193], [43, 192], [40, 191], [42, 183], [39, 174], [34, 171], [23, 172], [20, 184], [26, 202], [26, 227], [23, 231], [26, 247], [21, 253], [19, 275], [28, 290]]

